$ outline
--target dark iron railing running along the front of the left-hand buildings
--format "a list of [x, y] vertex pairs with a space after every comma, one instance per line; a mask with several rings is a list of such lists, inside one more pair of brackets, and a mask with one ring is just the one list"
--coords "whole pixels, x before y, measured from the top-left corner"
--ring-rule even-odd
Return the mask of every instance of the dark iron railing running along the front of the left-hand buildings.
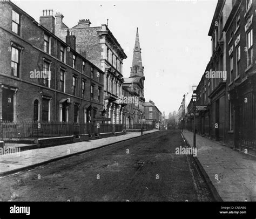
[[[140, 129], [140, 124], [129, 125], [129, 129]], [[153, 129], [153, 125], [143, 124], [144, 129]], [[38, 122], [38, 121], [18, 121], [0, 122], [1, 139], [30, 139], [30, 138], [50, 138], [55, 136], [83, 135], [122, 132], [127, 129], [125, 124], [99, 124], [95, 123], [74, 123], [74, 122]]]

